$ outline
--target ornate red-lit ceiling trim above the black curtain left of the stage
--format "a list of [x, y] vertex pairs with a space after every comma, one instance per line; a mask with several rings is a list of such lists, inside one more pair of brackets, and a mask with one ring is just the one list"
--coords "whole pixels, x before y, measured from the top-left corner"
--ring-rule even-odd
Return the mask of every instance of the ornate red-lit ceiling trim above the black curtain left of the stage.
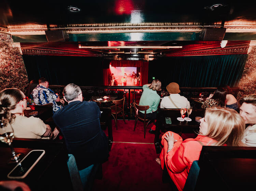
[[22, 48], [23, 55], [101, 56], [99, 54], [43, 48]]

